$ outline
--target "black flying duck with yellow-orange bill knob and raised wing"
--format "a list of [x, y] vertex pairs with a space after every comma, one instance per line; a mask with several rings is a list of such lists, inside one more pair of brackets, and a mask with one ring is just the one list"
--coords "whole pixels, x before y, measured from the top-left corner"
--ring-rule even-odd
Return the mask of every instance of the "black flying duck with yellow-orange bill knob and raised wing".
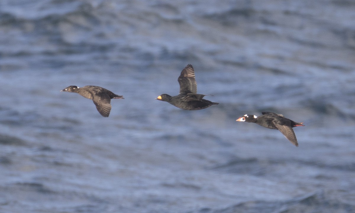
[[159, 95], [157, 100], [166, 101], [180, 109], [198, 110], [204, 109], [214, 104], [209, 100], [203, 99], [205, 95], [197, 93], [197, 83], [195, 80], [195, 71], [191, 64], [188, 64], [182, 71], [178, 78], [180, 84], [180, 93], [176, 96], [168, 94]]

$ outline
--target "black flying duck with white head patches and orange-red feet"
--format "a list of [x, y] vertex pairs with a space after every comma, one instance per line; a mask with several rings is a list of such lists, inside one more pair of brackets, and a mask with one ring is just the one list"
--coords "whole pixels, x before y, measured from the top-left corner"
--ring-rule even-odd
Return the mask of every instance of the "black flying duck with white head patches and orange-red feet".
[[302, 125], [303, 122], [297, 123], [293, 120], [285, 118], [281, 114], [276, 114], [271, 112], [262, 112], [262, 114], [263, 115], [261, 116], [244, 115], [243, 117], [240, 117], [236, 121], [252, 122], [269, 129], [280, 130], [280, 132], [282, 132], [284, 136], [289, 141], [291, 141], [291, 143], [295, 144], [295, 146], [298, 146], [297, 138], [292, 128], [295, 126], [304, 126]]

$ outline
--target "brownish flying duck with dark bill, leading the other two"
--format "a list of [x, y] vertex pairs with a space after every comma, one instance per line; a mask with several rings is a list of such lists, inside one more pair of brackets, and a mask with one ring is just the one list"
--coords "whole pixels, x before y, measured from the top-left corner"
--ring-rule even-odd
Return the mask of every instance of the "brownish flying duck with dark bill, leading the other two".
[[79, 93], [82, 97], [91, 99], [94, 102], [97, 111], [99, 111], [104, 117], [110, 115], [112, 98], [124, 99], [122, 95], [116, 95], [115, 93], [98, 86], [69, 86], [60, 92], [75, 92]]

